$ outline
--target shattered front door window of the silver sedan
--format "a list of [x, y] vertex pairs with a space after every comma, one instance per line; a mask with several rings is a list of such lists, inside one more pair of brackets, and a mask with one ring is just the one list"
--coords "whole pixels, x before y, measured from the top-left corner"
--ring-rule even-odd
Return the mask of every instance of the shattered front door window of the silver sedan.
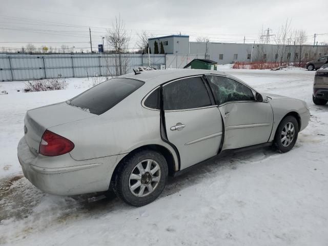
[[255, 100], [252, 90], [234, 79], [213, 75], [207, 75], [207, 78], [218, 105], [227, 101]]

